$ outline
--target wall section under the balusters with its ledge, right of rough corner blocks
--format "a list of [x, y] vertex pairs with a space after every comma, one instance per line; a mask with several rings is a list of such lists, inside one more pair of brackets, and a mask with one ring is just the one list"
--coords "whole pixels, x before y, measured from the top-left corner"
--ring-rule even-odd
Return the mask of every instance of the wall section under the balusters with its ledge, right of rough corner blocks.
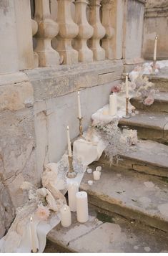
[[107, 104], [112, 82], [121, 79], [122, 61], [60, 66], [25, 71], [34, 87], [36, 163], [40, 178], [45, 162], [58, 161], [66, 149], [66, 125], [70, 136], [79, 134], [77, 90], [81, 90], [84, 128], [91, 115]]

